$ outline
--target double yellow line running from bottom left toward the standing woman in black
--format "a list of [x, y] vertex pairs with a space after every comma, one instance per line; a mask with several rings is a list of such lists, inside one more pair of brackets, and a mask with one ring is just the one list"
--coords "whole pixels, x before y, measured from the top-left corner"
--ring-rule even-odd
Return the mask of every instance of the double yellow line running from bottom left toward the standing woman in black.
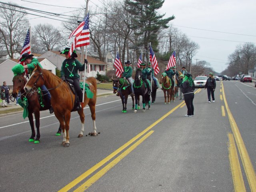
[[[197, 90], [195, 93], [197, 93], [199, 90]], [[90, 177], [88, 180], [86, 180], [82, 185], [80, 185], [74, 192], [83, 192], [88, 187], [90, 187], [94, 182], [96, 182], [98, 179], [100, 179], [108, 170], [110, 170], [112, 167], [114, 167], [120, 160], [122, 160], [125, 156], [127, 156], [132, 150], [134, 150], [139, 144], [141, 144], [146, 138], [148, 138], [154, 131], [152, 129], [154, 126], [156, 126], [159, 122], [164, 120], [167, 116], [172, 114], [176, 109], [178, 109], [180, 106], [184, 104], [184, 101], [178, 104], [176, 107], [174, 107], [172, 110], [170, 110], [168, 113], [166, 113], [164, 116], [162, 116], [160, 119], [158, 119], [156, 122], [148, 126], [145, 130], [140, 132], [137, 136], [129, 140], [126, 144], [112, 152], [110, 155], [108, 155], [106, 158], [98, 162], [96, 165], [94, 165], [92, 168], [84, 172], [82, 175], [80, 175], [78, 178], [64, 186], [62, 189], [60, 189], [58, 192], [67, 192], [68, 190], [72, 189], [74, 186], [76, 186], [78, 183], [82, 182], [86, 177], [88, 177], [90, 174], [95, 172], [98, 168], [103, 166], [106, 162], [110, 161], [114, 156], [118, 155], [122, 150], [130, 146], [133, 142], [138, 140], [141, 136], [144, 136], [140, 138], [137, 142], [135, 142], [132, 146], [130, 146], [127, 150], [125, 150], [122, 154], [120, 154], [118, 157], [116, 157], [112, 162], [108, 163], [105, 167], [103, 167], [100, 171], [98, 171], [96, 174], [94, 174], [92, 177]], [[148, 133], [147, 133], [148, 132]]]

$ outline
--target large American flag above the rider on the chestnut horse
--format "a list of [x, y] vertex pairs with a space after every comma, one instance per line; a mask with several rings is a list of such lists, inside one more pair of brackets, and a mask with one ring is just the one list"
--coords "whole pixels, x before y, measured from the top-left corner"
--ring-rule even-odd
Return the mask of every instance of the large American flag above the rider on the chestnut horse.
[[75, 48], [86, 46], [86, 45], [90, 45], [89, 14], [87, 14], [85, 18], [83, 29], [74, 38], [74, 41], [71, 45], [68, 55], [71, 56]]

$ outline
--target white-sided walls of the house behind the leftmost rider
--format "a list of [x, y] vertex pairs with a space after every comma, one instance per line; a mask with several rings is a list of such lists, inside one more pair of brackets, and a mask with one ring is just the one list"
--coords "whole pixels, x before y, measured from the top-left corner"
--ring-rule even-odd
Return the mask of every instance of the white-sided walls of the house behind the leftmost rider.
[[[44, 69], [50, 70], [53, 74], [56, 74], [56, 66], [52, 64], [48, 59], [41, 58], [38, 59], [40, 64]], [[8, 86], [13, 86], [12, 78], [14, 74], [12, 68], [18, 64], [18, 59], [6, 59], [4, 62], [0, 63], [0, 84], [6, 81]]]

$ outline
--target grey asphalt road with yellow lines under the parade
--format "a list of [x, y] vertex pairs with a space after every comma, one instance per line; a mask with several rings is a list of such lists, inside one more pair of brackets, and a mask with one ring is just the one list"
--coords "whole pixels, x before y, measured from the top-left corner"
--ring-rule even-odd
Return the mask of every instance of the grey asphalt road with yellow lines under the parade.
[[217, 82], [215, 98], [208, 103], [206, 90], [196, 89], [195, 115], [184, 117], [184, 101], [164, 104], [161, 90], [146, 112], [133, 113], [130, 98], [124, 114], [119, 97], [100, 97], [100, 134], [86, 136], [93, 129], [86, 108], [84, 137], [77, 138], [81, 125], [73, 112], [68, 148], [54, 135], [59, 123], [48, 111], [41, 112], [40, 144], [28, 142], [22, 114], [0, 117], [0, 191], [254, 191], [254, 83]]

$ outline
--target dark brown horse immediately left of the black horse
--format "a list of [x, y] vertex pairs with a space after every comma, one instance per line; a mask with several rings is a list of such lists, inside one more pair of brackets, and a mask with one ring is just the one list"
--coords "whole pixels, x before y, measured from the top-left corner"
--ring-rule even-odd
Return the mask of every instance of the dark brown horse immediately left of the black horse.
[[[130, 86], [128, 85], [127, 80], [124, 80], [123, 78], [117, 78], [116, 80], [112, 78], [111, 80], [113, 81], [113, 93], [116, 94], [116, 92], [119, 92], [119, 96], [122, 100], [122, 104], [123, 104], [122, 113], [126, 113], [127, 112], [126, 104], [127, 104], [128, 95], [131, 95]], [[132, 97], [132, 110], [134, 110], [134, 96], [131, 95], [131, 97]]]

